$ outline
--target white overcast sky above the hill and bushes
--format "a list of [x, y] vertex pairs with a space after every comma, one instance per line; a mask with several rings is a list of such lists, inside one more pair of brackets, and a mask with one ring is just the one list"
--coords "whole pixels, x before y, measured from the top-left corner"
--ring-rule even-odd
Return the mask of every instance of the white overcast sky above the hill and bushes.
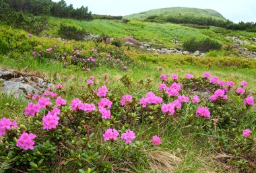
[[[55, 2], [59, 0], [53, 0]], [[165, 7], [214, 9], [233, 22], [256, 22], [256, 0], [65, 0], [73, 7], [88, 6], [92, 13], [129, 15]]]

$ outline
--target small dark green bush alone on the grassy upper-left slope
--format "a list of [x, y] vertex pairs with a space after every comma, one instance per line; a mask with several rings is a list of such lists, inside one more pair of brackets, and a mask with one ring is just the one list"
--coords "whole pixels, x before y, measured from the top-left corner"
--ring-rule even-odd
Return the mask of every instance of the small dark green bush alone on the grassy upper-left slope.
[[75, 26], [65, 26], [61, 24], [59, 28], [59, 34], [62, 34], [65, 38], [74, 40], [83, 40], [86, 36], [86, 31], [84, 29], [80, 30], [75, 28]]

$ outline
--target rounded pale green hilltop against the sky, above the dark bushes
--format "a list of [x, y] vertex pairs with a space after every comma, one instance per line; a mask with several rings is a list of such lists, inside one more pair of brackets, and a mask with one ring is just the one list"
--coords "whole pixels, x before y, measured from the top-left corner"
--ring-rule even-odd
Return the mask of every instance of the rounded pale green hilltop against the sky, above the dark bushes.
[[203, 17], [203, 18], [214, 18], [216, 20], [226, 20], [222, 14], [218, 13], [213, 9], [197, 9], [197, 8], [189, 8], [189, 7], [170, 7], [163, 9], [152, 9], [150, 11], [144, 11], [141, 13], [135, 13], [131, 15], [125, 16], [127, 19], [137, 19], [137, 20], [145, 20], [150, 15], [161, 15], [161, 16], [169, 16], [169, 15], [193, 15], [195, 17]]

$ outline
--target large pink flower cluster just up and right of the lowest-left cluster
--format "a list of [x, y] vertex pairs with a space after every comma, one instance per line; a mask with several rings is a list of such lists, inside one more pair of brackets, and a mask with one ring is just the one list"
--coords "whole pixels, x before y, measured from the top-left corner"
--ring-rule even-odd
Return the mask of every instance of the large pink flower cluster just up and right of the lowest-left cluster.
[[42, 117], [42, 129], [55, 129], [59, 124], [59, 116], [55, 112], [48, 112], [46, 116]]

